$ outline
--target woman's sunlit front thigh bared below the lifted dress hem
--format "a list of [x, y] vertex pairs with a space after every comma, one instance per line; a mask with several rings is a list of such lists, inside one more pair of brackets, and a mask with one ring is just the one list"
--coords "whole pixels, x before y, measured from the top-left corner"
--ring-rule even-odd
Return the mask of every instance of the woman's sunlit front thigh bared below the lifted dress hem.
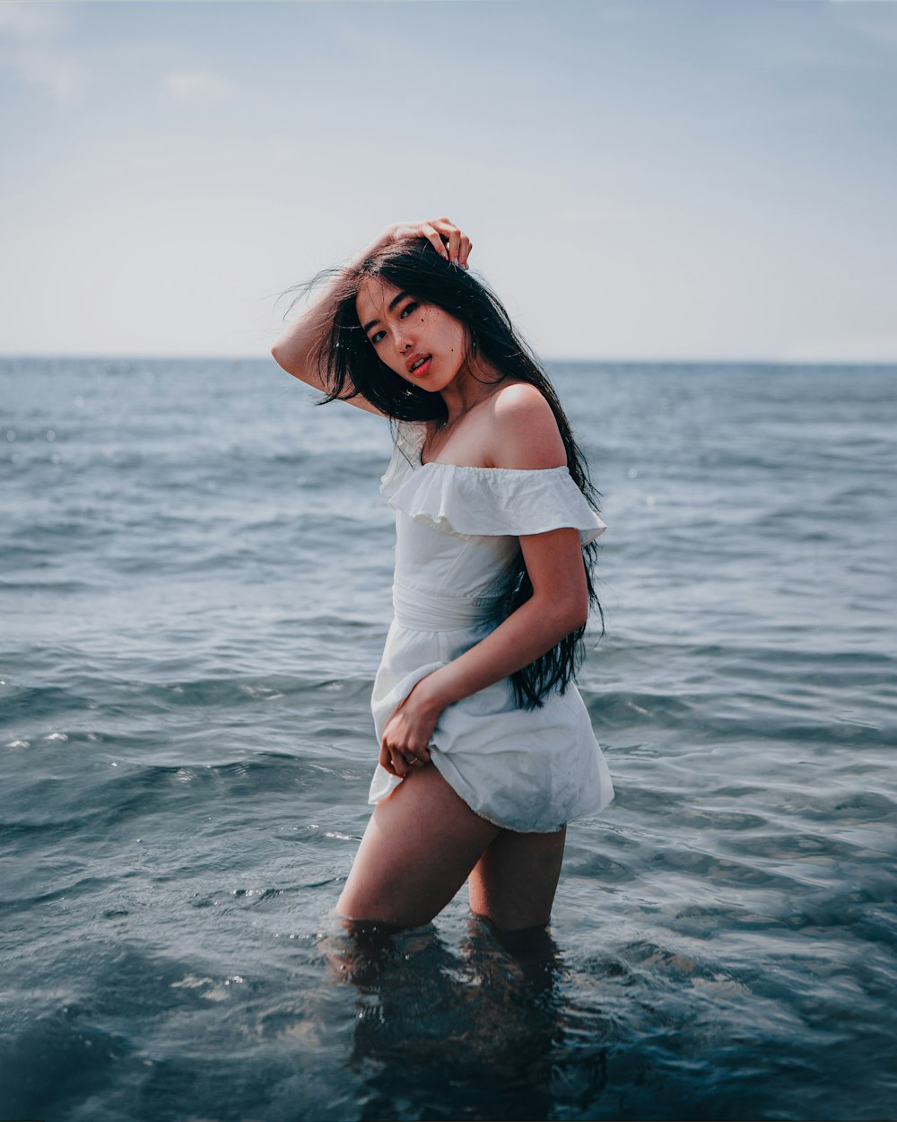
[[499, 833], [433, 764], [411, 771], [377, 803], [336, 909], [346, 919], [428, 923]]

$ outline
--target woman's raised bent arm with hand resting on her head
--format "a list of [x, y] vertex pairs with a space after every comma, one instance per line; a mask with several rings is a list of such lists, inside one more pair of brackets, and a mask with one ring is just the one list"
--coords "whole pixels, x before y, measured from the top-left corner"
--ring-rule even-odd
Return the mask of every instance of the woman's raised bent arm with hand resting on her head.
[[[466, 268], [468, 254], [471, 248], [470, 240], [447, 218], [433, 219], [432, 222], [398, 222], [395, 226], [389, 226], [346, 267], [350, 269], [355, 267], [366, 257], [370, 257], [392, 241], [420, 237], [427, 238], [434, 249], [443, 257], [451, 258], [456, 265]], [[298, 378], [299, 381], [304, 381], [322, 393], [327, 393], [327, 387], [324, 385], [314, 360], [314, 348], [315, 341], [326, 331], [329, 296], [335, 285], [335, 280], [331, 282], [318, 300], [287, 328], [271, 347], [271, 355], [287, 374], [292, 374], [294, 378]], [[355, 405], [368, 413], [385, 416], [376, 405], [371, 405], [360, 394], [348, 401], [350, 405]]]

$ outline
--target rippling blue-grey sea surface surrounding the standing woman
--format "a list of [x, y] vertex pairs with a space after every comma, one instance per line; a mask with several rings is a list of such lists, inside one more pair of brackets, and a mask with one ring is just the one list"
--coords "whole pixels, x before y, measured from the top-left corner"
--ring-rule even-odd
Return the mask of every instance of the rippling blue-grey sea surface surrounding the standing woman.
[[0, 364], [0, 1119], [897, 1116], [897, 368], [555, 365], [617, 799], [542, 948], [352, 942], [385, 422]]

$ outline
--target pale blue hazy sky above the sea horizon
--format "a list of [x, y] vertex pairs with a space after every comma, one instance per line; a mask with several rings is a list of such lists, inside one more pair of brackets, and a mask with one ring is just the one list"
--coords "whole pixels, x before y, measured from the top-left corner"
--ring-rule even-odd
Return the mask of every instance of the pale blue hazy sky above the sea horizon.
[[265, 356], [447, 215], [546, 358], [897, 361], [897, 2], [0, 2], [0, 355]]

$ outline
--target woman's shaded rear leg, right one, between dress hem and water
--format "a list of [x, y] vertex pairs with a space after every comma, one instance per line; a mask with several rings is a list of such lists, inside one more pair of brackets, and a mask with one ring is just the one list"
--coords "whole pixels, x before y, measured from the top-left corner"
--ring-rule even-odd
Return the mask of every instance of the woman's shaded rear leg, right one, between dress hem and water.
[[566, 834], [501, 830], [470, 874], [471, 911], [503, 931], [547, 923]]

